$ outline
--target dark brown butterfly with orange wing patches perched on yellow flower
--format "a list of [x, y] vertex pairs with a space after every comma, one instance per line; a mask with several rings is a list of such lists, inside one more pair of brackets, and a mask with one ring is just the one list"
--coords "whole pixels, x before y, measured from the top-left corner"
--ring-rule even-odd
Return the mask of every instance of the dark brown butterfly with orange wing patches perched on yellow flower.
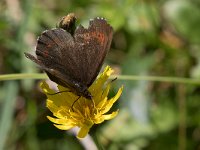
[[29, 53], [25, 56], [38, 64], [50, 80], [78, 96], [92, 99], [88, 88], [110, 49], [113, 28], [99, 17], [90, 20], [88, 28], [76, 28], [75, 21], [73, 13], [63, 17], [57, 28], [38, 37], [36, 57]]

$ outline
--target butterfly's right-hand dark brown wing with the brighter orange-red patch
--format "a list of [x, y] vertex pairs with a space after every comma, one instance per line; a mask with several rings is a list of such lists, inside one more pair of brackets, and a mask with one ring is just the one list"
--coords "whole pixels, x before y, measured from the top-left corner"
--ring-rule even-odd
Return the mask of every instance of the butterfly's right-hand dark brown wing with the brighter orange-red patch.
[[87, 87], [93, 83], [101, 69], [110, 49], [112, 35], [112, 27], [103, 18], [91, 20], [88, 29], [79, 26], [75, 30], [74, 55], [77, 71], [73, 73]]

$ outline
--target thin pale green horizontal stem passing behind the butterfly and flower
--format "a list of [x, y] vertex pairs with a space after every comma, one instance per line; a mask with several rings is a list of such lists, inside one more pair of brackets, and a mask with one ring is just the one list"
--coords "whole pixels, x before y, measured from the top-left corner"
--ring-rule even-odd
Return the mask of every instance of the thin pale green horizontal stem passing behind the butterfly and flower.
[[[173, 83], [184, 83], [184, 84], [195, 84], [200, 85], [199, 79], [181, 78], [181, 77], [161, 77], [161, 76], [135, 76], [135, 75], [113, 75], [111, 78], [118, 80], [147, 80], [156, 82], [173, 82]], [[0, 81], [3, 80], [22, 80], [22, 79], [47, 79], [46, 74], [41, 73], [21, 73], [21, 74], [5, 74], [0, 75]]]

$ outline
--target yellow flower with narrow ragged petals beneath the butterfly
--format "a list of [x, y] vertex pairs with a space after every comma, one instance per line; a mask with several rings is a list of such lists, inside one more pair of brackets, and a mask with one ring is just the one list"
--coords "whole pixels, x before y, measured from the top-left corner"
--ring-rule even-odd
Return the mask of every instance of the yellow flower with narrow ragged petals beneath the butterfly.
[[[88, 90], [92, 94], [92, 100], [84, 97], [80, 97], [77, 100], [79, 96], [71, 92], [49, 95], [48, 93], [55, 93], [55, 91], [50, 89], [46, 82], [42, 82], [40, 86], [48, 97], [46, 105], [56, 117], [47, 116], [47, 118], [61, 130], [69, 130], [76, 126], [79, 127], [78, 138], [85, 137], [94, 124], [100, 124], [105, 120], [114, 118], [118, 114], [118, 110], [111, 114], [105, 113], [110, 110], [113, 103], [120, 97], [123, 87], [118, 90], [113, 98], [108, 100], [107, 96], [111, 83], [108, 82], [105, 84], [105, 82], [112, 72], [113, 70], [107, 66], [104, 72], [89, 87]], [[67, 91], [69, 89], [58, 85], [58, 90]]]

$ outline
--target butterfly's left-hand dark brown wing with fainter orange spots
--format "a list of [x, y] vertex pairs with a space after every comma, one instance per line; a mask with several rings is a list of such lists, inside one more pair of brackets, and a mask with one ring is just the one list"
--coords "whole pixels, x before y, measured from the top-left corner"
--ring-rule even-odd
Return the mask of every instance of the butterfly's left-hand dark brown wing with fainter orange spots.
[[[37, 63], [52, 81], [76, 91], [75, 80], [71, 78], [71, 67], [65, 68], [62, 64], [65, 59], [62, 54], [63, 49], [70, 51], [73, 45], [73, 37], [63, 29], [47, 30], [37, 40], [37, 58], [28, 53], [25, 53], [25, 56]], [[65, 61], [71, 63], [69, 60], [70, 57]]]

